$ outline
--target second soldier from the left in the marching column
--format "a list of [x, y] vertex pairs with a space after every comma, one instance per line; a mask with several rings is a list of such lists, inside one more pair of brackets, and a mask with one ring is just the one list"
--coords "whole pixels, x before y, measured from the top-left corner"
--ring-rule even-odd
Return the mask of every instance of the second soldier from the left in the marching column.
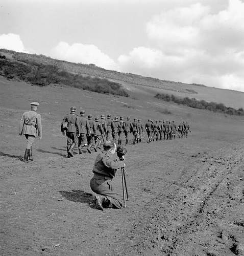
[[[87, 137], [90, 136], [90, 124], [87, 118], [85, 118], [85, 111], [80, 112], [80, 117], [78, 117], [78, 123], [80, 125], [80, 136], [78, 140], [79, 154], [82, 154], [81, 148], [87, 146]], [[89, 150], [87, 149], [89, 152]], [[90, 152], [89, 152], [90, 153]]]

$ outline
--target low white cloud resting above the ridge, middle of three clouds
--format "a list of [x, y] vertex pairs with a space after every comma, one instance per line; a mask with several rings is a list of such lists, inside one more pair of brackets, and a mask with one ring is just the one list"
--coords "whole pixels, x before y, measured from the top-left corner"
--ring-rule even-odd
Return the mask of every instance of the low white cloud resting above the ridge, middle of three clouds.
[[59, 42], [51, 51], [51, 57], [76, 63], [93, 63], [105, 69], [118, 70], [113, 59], [94, 45], [79, 43], [69, 45], [67, 42]]

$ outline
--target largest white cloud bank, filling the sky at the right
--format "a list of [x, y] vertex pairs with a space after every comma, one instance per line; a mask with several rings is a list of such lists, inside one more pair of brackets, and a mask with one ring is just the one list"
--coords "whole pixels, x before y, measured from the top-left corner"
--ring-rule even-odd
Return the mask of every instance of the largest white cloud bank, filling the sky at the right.
[[[204, 2], [206, 3], [206, 2]], [[122, 71], [244, 91], [244, 3], [223, 10], [194, 3], [155, 15], [147, 23], [149, 47], [121, 55]]]

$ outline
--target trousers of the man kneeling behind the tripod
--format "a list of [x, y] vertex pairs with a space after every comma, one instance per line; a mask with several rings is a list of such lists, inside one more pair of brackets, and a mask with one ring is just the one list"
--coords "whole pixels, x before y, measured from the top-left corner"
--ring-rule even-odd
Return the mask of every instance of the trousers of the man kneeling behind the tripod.
[[103, 206], [117, 209], [123, 207], [123, 200], [113, 191], [111, 180], [109, 180], [108, 177], [94, 175], [94, 177], [91, 178], [90, 187], [94, 193], [105, 196], [108, 199], [107, 205]]

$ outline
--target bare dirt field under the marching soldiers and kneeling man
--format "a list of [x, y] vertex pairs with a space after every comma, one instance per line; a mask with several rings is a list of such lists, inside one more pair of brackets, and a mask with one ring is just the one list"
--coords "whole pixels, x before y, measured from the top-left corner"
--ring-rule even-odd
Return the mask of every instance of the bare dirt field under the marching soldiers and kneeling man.
[[[124, 98], [2, 77], [0, 89], [1, 255], [244, 255], [243, 117], [170, 105], [138, 90]], [[41, 103], [43, 138], [25, 164], [18, 121], [31, 101]], [[128, 207], [99, 211], [89, 187], [97, 153], [66, 158], [59, 126], [71, 105], [93, 116], [187, 120], [192, 133], [130, 144]], [[114, 186], [122, 194], [119, 171]]]

